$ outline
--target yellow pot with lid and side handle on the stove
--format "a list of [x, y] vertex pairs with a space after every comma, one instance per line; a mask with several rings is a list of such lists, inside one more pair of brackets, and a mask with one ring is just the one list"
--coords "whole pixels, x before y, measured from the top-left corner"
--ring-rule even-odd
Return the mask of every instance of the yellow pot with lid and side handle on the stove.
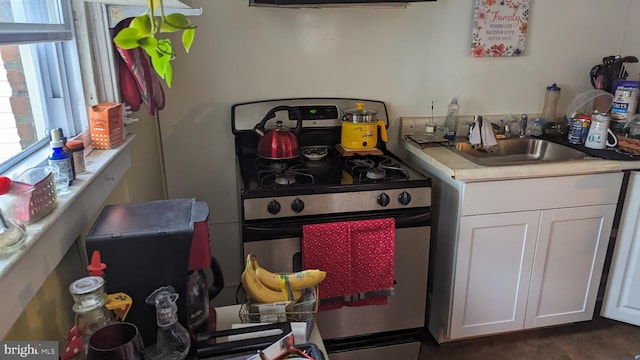
[[365, 109], [363, 103], [356, 103], [355, 109], [345, 111], [340, 143], [349, 150], [373, 149], [378, 145], [378, 129], [381, 140], [387, 142], [386, 125], [376, 115], [376, 111]]

